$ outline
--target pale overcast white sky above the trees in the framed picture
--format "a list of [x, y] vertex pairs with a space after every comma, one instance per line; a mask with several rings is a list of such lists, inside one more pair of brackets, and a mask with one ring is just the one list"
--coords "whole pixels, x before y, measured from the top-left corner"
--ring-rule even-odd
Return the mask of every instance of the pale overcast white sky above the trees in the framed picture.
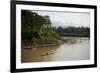
[[79, 13], [79, 12], [55, 12], [55, 11], [35, 11], [39, 15], [50, 17], [52, 26], [58, 27], [90, 27], [90, 14], [89, 13]]

